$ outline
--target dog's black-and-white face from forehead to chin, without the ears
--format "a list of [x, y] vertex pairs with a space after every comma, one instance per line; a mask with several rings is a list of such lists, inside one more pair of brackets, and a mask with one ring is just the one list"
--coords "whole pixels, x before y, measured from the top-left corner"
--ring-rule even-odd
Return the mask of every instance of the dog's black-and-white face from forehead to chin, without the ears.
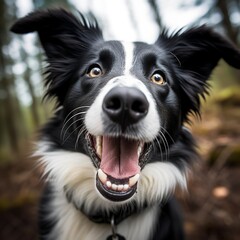
[[97, 189], [109, 200], [123, 201], [136, 192], [153, 145], [166, 152], [165, 135], [179, 131], [178, 97], [160, 48], [101, 42], [89, 52], [81, 82], [69, 91], [79, 99], [68, 97], [65, 104], [84, 112], [80, 125], [98, 169]]

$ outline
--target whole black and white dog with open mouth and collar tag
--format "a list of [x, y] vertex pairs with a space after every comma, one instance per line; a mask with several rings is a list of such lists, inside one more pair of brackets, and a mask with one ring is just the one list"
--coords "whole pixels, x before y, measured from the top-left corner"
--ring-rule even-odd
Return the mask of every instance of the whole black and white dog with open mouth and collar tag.
[[48, 180], [40, 239], [184, 239], [170, 198], [196, 158], [184, 123], [218, 61], [240, 68], [240, 51], [205, 26], [152, 45], [104, 41], [91, 19], [44, 10], [11, 29], [38, 32], [57, 99], [36, 153]]

